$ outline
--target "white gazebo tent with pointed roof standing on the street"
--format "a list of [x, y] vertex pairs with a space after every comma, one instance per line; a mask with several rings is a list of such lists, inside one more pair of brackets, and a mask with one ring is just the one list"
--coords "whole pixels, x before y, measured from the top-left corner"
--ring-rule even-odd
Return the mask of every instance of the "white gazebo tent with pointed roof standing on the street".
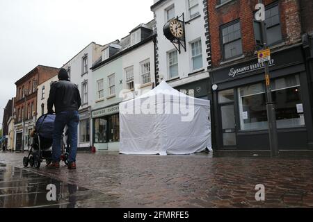
[[120, 153], [191, 154], [211, 150], [209, 101], [186, 96], [165, 81], [120, 103]]

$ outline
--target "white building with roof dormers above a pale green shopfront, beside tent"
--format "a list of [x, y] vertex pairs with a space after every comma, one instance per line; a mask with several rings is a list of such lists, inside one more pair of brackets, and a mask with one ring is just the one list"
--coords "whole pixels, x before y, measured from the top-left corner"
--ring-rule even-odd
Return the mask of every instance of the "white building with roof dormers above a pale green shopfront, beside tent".
[[127, 94], [127, 99], [131, 99], [138, 89], [144, 92], [155, 86], [153, 26], [153, 20], [141, 24], [118, 45], [108, 44], [102, 61], [92, 68], [93, 85], [96, 85], [93, 91], [93, 145], [97, 151], [119, 151], [119, 103], [123, 96]]

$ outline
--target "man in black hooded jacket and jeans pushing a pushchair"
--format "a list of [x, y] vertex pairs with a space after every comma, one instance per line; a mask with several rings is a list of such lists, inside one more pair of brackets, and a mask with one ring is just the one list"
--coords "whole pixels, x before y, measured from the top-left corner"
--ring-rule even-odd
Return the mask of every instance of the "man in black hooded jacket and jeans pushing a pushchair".
[[71, 135], [71, 149], [67, 160], [67, 167], [69, 169], [76, 169], [78, 110], [81, 107], [81, 96], [77, 85], [70, 82], [65, 69], [61, 69], [58, 72], [58, 81], [51, 85], [48, 99], [49, 114], [54, 113], [53, 106], [56, 110], [56, 119], [54, 121], [52, 162], [48, 167], [51, 169], [58, 169], [60, 167], [62, 135], [67, 125]]

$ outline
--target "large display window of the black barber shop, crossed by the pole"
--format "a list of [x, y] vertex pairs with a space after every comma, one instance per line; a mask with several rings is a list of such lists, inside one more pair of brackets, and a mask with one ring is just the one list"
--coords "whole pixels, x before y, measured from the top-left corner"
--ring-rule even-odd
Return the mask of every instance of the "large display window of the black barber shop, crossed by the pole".
[[[264, 83], [238, 89], [241, 130], [266, 130], [266, 95]], [[299, 75], [272, 81], [278, 128], [305, 126], [303, 102], [300, 94]]]

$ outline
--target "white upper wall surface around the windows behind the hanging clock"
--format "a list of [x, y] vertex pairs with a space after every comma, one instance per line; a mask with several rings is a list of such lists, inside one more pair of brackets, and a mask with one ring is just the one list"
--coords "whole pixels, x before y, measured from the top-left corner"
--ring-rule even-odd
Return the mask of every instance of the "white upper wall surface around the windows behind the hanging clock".
[[[198, 0], [199, 3], [199, 12], [200, 17], [197, 17], [191, 20], [190, 24], [185, 25], [185, 33], [186, 33], [186, 52], [182, 48], [182, 53], [178, 54], [178, 69], [179, 69], [179, 77], [180, 80], [176, 80], [170, 83], [173, 87], [177, 85], [182, 85], [184, 83], [190, 83], [194, 80], [199, 80], [202, 78], [209, 77], [207, 73], [207, 45], [206, 37], [205, 37], [205, 28], [204, 28], [204, 6], [202, 0]], [[158, 53], [159, 53], [159, 75], [163, 76], [164, 80], [169, 79], [169, 71], [168, 71], [168, 60], [167, 60], [167, 52], [175, 49], [175, 46], [166, 39], [163, 35], [163, 26], [166, 24], [166, 8], [169, 8], [175, 5], [175, 16], [180, 16], [184, 12], [185, 21], [190, 19], [189, 11], [188, 11], [188, 0], [172, 0], [166, 1], [162, 3], [160, 6], [154, 9], [157, 21], [157, 40], [158, 40]], [[188, 74], [193, 73], [193, 65], [192, 65], [192, 53], [191, 53], [191, 42], [200, 38], [202, 42], [202, 66], [204, 71], [196, 76], [188, 77]], [[184, 79], [186, 78], [186, 79]]]

